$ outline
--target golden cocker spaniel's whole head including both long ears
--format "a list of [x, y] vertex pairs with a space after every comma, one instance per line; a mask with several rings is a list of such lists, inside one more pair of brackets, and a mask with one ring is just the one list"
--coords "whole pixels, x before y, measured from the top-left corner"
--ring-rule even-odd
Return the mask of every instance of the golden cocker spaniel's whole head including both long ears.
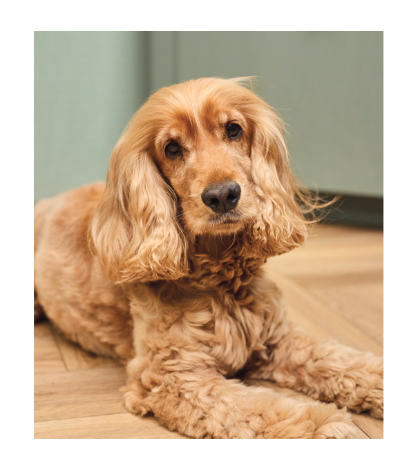
[[91, 226], [111, 279], [187, 275], [196, 235], [240, 235], [248, 256], [303, 243], [283, 121], [246, 81], [162, 88], [135, 113], [111, 156]]

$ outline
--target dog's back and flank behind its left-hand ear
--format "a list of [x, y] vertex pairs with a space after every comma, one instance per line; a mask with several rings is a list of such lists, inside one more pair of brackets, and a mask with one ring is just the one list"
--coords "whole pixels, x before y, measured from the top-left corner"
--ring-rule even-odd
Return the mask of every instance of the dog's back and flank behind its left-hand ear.
[[[86, 350], [113, 357], [131, 346], [129, 303], [102, 273], [88, 245], [88, 227], [103, 183], [39, 201], [34, 208], [34, 319], [44, 313]], [[112, 321], [120, 336], [102, 342], [97, 333]], [[109, 328], [107, 328], [108, 330]]]

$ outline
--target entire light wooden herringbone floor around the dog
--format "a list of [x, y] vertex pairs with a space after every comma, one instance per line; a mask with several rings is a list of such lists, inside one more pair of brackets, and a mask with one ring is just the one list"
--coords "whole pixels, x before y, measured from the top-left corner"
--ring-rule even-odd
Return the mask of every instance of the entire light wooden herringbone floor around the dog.
[[[267, 273], [283, 289], [289, 319], [312, 334], [383, 355], [381, 230], [317, 226], [305, 248], [270, 259]], [[35, 438], [186, 438], [153, 417], [128, 413], [122, 366], [86, 353], [48, 322], [34, 326], [34, 373]], [[383, 438], [383, 420], [352, 417], [359, 438]]]

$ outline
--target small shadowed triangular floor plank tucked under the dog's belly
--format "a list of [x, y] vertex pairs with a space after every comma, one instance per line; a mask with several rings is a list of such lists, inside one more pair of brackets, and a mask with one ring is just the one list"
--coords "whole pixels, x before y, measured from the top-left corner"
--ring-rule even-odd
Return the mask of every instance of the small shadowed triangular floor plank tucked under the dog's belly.
[[121, 367], [122, 364], [111, 357], [87, 352], [77, 344], [69, 341], [57, 328], [52, 326], [55, 341], [68, 371], [82, 371], [87, 368]]

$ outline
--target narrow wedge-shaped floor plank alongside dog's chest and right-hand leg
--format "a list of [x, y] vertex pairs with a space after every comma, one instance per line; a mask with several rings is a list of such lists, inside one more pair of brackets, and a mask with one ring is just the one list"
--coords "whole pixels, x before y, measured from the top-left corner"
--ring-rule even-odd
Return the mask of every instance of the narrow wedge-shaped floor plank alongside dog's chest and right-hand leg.
[[267, 275], [283, 290], [289, 320], [304, 328], [309, 334], [337, 339], [341, 344], [357, 350], [383, 355], [383, 347], [380, 344], [353, 326], [338, 312], [330, 310], [309, 291], [289, 277], [278, 273], [274, 266], [269, 266], [268, 261], [265, 268]]

